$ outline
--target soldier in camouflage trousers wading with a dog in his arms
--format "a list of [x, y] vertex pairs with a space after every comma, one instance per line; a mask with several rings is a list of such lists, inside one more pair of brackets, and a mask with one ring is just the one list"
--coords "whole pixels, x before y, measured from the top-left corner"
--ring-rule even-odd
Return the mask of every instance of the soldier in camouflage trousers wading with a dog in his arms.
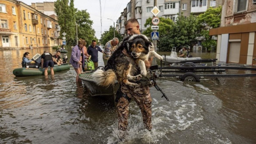
[[[125, 29], [127, 30], [127, 34], [132, 36], [134, 34], [140, 34], [140, 25], [136, 19], [129, 19], [124, 24]], [[122, 43], [122, 42], [120, 42]], [[119, 43], [119, 44], [120, 44]], [[124, 50], [123, 53], [127, 56], [126, 51]], [[148, 61], [145, 61], [146, 68], [150, 67], [152, 63], [152, 58], [149, 58]], [[138, 71], [137, 74], [140, 71]], [[135, 74], [135, 75], [137, 75]], [[125, 84], [121, 84], [121, 91], [120, 89], [117, 91], [117, 97], [120, 99], [117, 102], [117, 113], [118, 113], [118, 129], [122, 131], [126, 131], [128, 125], [128, 114], [129, 114], [129, 102], [133, 98], [134, 101], [137, 103], [141, 110], [143, 124], [145, 128], [149, 131], [152, 129], [151, 123], [151, 102], [152, 98], [149, 93], [149, 86], [143, 86], [141, 83], [138, 86], [129, 87]]]

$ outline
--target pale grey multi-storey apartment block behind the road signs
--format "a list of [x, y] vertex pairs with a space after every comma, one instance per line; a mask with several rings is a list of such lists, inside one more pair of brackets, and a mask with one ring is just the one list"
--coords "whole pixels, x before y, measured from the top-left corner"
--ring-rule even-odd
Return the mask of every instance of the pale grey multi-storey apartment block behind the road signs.
[[[191, 12], [195, 15], [198, 15], [206, 12], [206, 10], [210, 7], [218, 7], [222, 4], [222, 1], [223, 0], [157, 0], [157, 8], [160, 10], [157, 16], [175, 21], [181, 12], [184, 16], [189, 16]], [[140, 24], [140, 30], [143, 32], [147, 29], [147, 27], [144, 27], [146, 20], [153, 16], [151, 10], [154, 7], [154, 0], [131, 0], [127, 4], [127, 11], [128, 8], [130, 8], [129, 6], [134, 3], [135, 16], [130, 17], [129, 15], [129, 17], [127, 16], [126, 19], [137, 19]], [[131, 10], [133, 11], [133, 9]], [[120, 20], [117, 20], [117, 25], [119, 22]], [[120, 28], [117, 30], [120, 30]]]

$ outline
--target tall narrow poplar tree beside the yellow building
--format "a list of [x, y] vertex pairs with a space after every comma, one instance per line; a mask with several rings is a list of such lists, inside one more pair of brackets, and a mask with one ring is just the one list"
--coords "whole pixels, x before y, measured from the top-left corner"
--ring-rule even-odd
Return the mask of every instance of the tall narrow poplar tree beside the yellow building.
[[[69, 4], [69, 5], [68, 5]], [[74, 8], [74, 0], [57, 0], [54, 3], [55, 13], [58, 17], [58, 23], [61, 27], [60, 34], [65, 32], [67, 35], [66, 42], [67, 45], [72, 45], [76, 35], [76, 9]]]

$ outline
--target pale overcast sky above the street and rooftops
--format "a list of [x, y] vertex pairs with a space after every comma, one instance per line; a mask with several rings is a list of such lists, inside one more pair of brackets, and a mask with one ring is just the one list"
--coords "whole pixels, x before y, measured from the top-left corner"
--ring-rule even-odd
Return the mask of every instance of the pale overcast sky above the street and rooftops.
[[[31, 5], [31, 3], [54, 2], [56, 0], [20, 0], [21, 2]], [[102, 17], [102, 33], [109, 29], [110, 25], [116, 25], [116, 20], [120, 17], [121, 12], [127, 6], [130, 0], [74, 0], [75, 8], [78, 10], [87, 10], [91, 20], [93, 21], [92, 28], [95, 30], [95, 36], [100, 39], [100, 2], [101, 2], [101, 17]], [[112, 19], [112, 20], [108, 20]]]

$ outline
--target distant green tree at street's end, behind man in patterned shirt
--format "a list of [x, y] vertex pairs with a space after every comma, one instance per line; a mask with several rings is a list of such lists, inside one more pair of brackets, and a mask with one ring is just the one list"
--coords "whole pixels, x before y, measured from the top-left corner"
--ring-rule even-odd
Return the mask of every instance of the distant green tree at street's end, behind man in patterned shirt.
[[[110, 26], [108, 31], [104, 31], [100, 37], [100, 43], [105, 45], [108, 41], [114, 38], [114, 30], [113, 26]], [[123, 37], [115, 30], [115, 36], [119, 39], [119, 42], [123, 40]]]

